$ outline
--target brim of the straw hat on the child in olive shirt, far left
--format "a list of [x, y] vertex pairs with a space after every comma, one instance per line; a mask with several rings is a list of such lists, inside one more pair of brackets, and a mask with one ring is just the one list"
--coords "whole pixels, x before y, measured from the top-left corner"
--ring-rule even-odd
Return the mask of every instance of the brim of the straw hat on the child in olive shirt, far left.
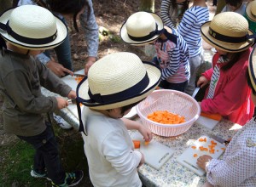
[[[0, 22], [3, 24], [6, 24], [9, 20], [10, 14], [13, 12], [15, 8], [11, 8], [7, 11], [5, 11], [1, 17], [0, 17]], [[41, 44], [41, 45], [32, 45], [32, 44], [28, 44], [25, 42], [20, 42], [18, 40], [16, 40], [14, 37], [10, 36], [7, 31], [3, 31], [0, 29], [0, 34], [2, 35], [3, 39], [11, 42], [12, 44], [14, 44], [15, 46], [18, 46], [20, 48], [26, 48], [26, 49], [33, 49], [33, 50], [44, 50], [44, 49], [48, 49], [48, 48], [55, 48], [56, 46], [60, 45], [61, 42], [63, 42], [65, 40], [65, 38], [67, 37], [67, 26], [65, 26], [65, 24], [63, 23], [62, 20], [60, 20], [57, 16], [55, 16], [56, 18], [56, 26], [57, 26], [57, 37], [55, 38], [55, 40], [53, 42], [49, 42], [47, 44]]]

